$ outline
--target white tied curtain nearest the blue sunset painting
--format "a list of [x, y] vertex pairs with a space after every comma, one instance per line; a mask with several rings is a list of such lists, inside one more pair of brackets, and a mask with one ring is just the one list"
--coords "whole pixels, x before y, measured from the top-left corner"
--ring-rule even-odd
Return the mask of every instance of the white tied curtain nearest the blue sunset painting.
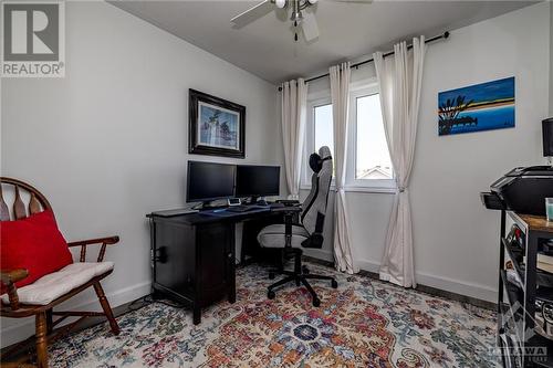
[[380, 52], [374, 54], [386, 139], [397, 183], [380, 278], [404, 287], [417, 286], [413, 262], [409, 177], [415, 156], [425, 52], [425, 38], [420, 36], [413, 39], [413, 52], [408, 51], [406, 42], [401, 42], [394, 46], [394, 56], [389, 59], [384, 60]]

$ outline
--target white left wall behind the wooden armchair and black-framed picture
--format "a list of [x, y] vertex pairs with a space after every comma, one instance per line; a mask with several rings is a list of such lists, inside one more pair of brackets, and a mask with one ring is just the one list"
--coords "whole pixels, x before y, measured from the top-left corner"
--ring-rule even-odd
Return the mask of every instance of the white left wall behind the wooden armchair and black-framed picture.
[[[66, 55], [65, 78], [2, 81], [2, 175], [36, 186], [67, 240], [121, 235], [116, 306], [149, 292], [145, 215], [185, 203], [187, 160], [230, 161], [188, 155], [188, 88], [244, 105], [242, 161], [281, 165], [276, 88], [105, 2], [66, 3]], [[2, 346], [32, 330], [1, 323]]]

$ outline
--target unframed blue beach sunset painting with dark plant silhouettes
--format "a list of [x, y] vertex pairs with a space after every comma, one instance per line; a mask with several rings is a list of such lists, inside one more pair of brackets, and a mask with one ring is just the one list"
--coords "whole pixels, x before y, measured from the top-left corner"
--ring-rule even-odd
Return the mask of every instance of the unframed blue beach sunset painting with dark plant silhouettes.
[[514, 127], [514, 77], [438, 94], [438, 134]]

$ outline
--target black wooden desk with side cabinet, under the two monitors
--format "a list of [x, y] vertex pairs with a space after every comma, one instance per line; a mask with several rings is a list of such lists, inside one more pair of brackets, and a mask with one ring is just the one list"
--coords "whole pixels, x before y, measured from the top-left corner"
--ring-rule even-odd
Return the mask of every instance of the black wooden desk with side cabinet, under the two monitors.
[[[195, 325], [201, 322], [202, 307], [225, 296], [234, 303], [234, 224], [259, 220], [276, 223], [281, 217], [270, 208], [171, 217], [164, 217], [163, 212], [148, 214], [154, 296], [190, 306]], [[253, 234], [244, 240], [252, 238]]]

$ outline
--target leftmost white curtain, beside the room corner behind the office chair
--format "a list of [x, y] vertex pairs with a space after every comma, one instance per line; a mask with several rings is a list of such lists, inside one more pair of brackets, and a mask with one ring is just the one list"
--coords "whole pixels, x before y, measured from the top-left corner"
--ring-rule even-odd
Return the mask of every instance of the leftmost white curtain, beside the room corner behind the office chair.
[[282, 85], [282, 143], [290, 199], [299, 199], [303, 141], [307, 108], [307, 85], [302, 78]]

